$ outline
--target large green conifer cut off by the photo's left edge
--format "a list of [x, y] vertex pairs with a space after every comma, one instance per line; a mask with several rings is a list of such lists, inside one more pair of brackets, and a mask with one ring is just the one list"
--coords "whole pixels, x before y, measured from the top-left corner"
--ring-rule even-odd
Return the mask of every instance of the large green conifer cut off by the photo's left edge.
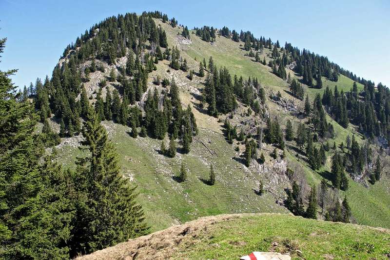
[[16, 71], [0, 71], [0, 258], [67, 259], [68, 203], [53, 188], [60, 170], [40, 163], [39, 117], [32, 103], [18, 101], [9, 78]]

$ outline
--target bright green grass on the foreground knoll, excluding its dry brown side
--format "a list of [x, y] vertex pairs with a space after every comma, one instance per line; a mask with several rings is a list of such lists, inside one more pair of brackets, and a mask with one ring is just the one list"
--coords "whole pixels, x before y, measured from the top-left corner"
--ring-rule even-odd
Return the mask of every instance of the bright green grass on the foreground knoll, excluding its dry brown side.
[[[212, 243], [220, 247], [210, 246]], [[216, 223], [200, 234], [197, 242], [182, 246], [175, 258], [238, 259], [253, 251], [274, 250], [289, 252], [293, 259], [386, 259], [389, 246], [389, 233], [367, 227], [287, 215], [257, 215]]]

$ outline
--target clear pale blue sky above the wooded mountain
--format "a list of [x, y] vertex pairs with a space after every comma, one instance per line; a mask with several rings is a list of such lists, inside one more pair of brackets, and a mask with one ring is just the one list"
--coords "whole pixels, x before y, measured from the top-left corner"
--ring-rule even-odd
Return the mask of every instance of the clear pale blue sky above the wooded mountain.
[[389, 0], [0, 0], [0, 70], [19, 68], [18, 86], [51, 76], [66, 45], [118, 13], [159, 10], [181, 24], [250, 30], [328, 56], [357, 76], [390, 87]]

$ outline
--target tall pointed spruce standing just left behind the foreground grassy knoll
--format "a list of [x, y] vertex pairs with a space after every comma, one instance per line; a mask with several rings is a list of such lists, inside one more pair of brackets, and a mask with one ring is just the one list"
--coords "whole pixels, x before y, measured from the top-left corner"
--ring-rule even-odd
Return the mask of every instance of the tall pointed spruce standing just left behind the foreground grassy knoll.
[[144, 235], [148, 227], [136, 203], [136, 187], [122, 178], [117, 153], [95, 110], [88, 110], [80, 149], [90, 155], [79, 158], [78, 191], [75, 198], [76, 221], [72, 231], [72, 254], [90, 253]]

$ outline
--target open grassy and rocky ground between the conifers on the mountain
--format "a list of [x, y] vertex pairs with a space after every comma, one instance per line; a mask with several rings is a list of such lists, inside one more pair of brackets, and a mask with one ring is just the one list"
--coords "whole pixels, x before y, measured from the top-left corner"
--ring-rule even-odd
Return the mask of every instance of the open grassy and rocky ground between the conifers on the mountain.
[[[227, 67], [231, 75], [236, 74], [244, 79], [249, 77], [257, 78], [260, 85], [266, 92], [266, 103], [264, 109], [271, 118], [277, 116], [281, 127], [284, 130], [287, 120], [291, 120], [296, 129], [298, 123], [305, 122], [305, 118], [299, 113], [303, 110], [304, 102], [290, 95], [290, 83], [276, 76], [272, 68], [254, 62], [254, 58], [245, 56], [247, 53], [242, 45], [243, 42], [235, 42], [222, 36], [217, 36], [215, 42], [203, 41], [200, 37], [190, 33], [191, 40], [183, 40], [181, 33], [183, 27], [172, 27], [170, 23], [164, 23], [160, 19], [154, 19], [156, 25], [166, 32], [168, 46], [175, 46], [181, 51], [181, 57], [188, 62], [188, 71], [198, 71], [199, 61], [209, 60], [213, 57], [215, 65], [219, 68]], [[193, 32], [193, 31], [190, 31]], [[260, 55], [261, 59], [272, 60], [272, 50], [264, 48]], [[66, 59], [65, 59], [66, 60]], [[60, 62], [63, 62], [60, 60]], [[91, 65], [86, 61], [82, 69]], [[117, 58], [116, 65], [109, 65], [101, 62], [105, 68], [104, 72], [96, 71], [89, 74], [89, 81], [84, 82], [88, 97], [92, 103], [96, 103], [98, 84], [102, 79], [109, 79], [111, 70], [119, 74], [120, 68], [126, 66], [126, 57]], [[292, 78], [302, 80], [302, 77], [290, 69], [286, 69]], [[253, 160], [250, 167], [244, 164], [245, 143], [234, 141], [230, 144], [226, 141], [226, 132], [223, 121], [229, 115], [220, 115], [215, 118], [209, 116], [205, 108], [200, 108], [201, 96], [205, 89], [205, 77], [198, 77], [195, 73], [194, 79], [188, 79], [188, 72], [170, 68], [169, 60], [161, 60], [156, 64], [155, 70], [149, 73], [147, 79], [147, 91], [152, 92], [156, 88], [160, 93], [169, 90], [162, 86], [156, 86], [153, 82], [156, 77], [160, 79], [174, 79], [179, 88], [180, 100], [183, 107], [188, 104], [192, 107], [196, 123], [199, 129], [198, 136], [194, 137], [191, 144], [191, 151], [188, 154], [181, 153], [180, 149], [175, 158], [163, 156], [160, 153], [161, 140], [151, 137], [132, 138], [132, 128], [112, 121], [103, 121], [103, 125], [109, 132], [117, 152], [120, 155], [120, 166], [123, 175], [129, 178], [132, 183], [138, 186], [138, 200], [142, 204], [146, 221], [152, 231], [167, 228], [170, 225], [194, 220], [202, 216], [217, 215], [223, 213], [257, 213], [275, 212], [288, 213], [283, 205], [287, 198], [286, 188], [291, 188], [291, 181], [286, 175], [287, 168], [301, 172], [304, 176], [305, 196], [309, 195], [310, 185], [318, 186], [323, 177], [331, 172], [331, 156], [333, 150], [327, 151], [327, 160], [324, 166], [313, 171], [305, 156], [299, 152], [294, 141], [286, 141], [285, 158], [274, 160], [270, 157], [274, 145], [264, 143], [261, 152], [265, 155], [265, 163], [261, 164]], [[334, 89], [337, 85], [339, 90], [349, 91], [353, 80], [344, 75], [339, 75], [336, 82], [323, 77], [323, 87], [315, 89], [303, 84], [306, 93], [311, 100], [316, 94], [323, 94], [326, 86]], [[315, 82], [315, 80], [314, 80]], [[118, 81], [107, 82], [107, 87], [102, 88], [102, 97], [105, 98], [107, 89], [112, 92], [121, 89]], [[363, 85], [357, 83], [360, 90]], [[142, 96], [138, 105], [142, 106], [147, 97], [147, 91]], [[290, 111], [275, 102], [272, 96], [280, 92], [281, 99], [290, 102], [294, 110]], [[258, 126], [265, 127], [266, 119], [251, 112], [247, 115], [248, 106], [241, 100], [237, 100], [238, 106], [235, 109], [233, 118], [229, 118], [232, 124], [240, 124], [245, 120], [254, 120]], [[358, 128], [349, 124], [343, 128], [330, 115], [327, 120], [334, 128], [335, 138], [330, 139], [332, 145], [335, 142], [337, 151], [341, 143], [346, 143], [347, 136], [355, 136], [359, 144], [365, 143], [365, 138], [358, 133]], [[52, 126], [59, 129], [58, 121], [52, 119]], [[138, 130], [139, 131], [139, 130]], [[57, 158], [65, 167], [72, 167], [77, 156], [81, 156], [78, 150], [80, 136], [63, 138], [62, 143], [57, 146]], [[169, 138], [165, 137], [165, 144], [168, 145]], [[297, 152], [298, 151], [298, 152]], [[279, 150], [279, 154], [282, 151]], [[388, 159], [385, 159], [388, 160]], [[386, 161], [387, 163], [387, 161]], [[180, 183], [177, 181], [181, 164], [188, 172], [188, 180]], [[216, 172], [216, 184], [207, 184], [210, 165], [213, 164]], [[344, 192], [336, 190], [334, 200], [342, 200], [344, 195], [348, 196], [351, 206], [351, 221], [360, 224], [390, 227], [390, 185], [387, 176], [387, 164], [384, 165], [382, 180], [370, 184], [367, 180], [361, 183], [350, 179], [350, 188]], [[266, 192], [259, 196], [259, 183], [264, 183]], [[331, 187], [331, 185], [330, 185]], [[331, 188], [333, 191], [333, 189]], [[336, 198], [336, 199], [334, 199]], [[319, 213], [319, 211], [318, 211]], [[319, 216], [323, 218], [322, 216]]]

